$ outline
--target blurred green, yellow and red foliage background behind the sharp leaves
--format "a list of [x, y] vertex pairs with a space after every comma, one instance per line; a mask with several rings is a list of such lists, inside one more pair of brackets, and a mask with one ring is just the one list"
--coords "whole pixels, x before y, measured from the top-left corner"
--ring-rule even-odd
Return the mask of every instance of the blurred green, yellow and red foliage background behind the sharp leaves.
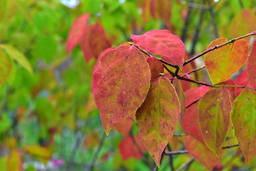
[[[134, 120], [125, 120], [106, 138], [91, 94], [96, 59], [86, 62], [80, 45], [66, 54], [78, 16], [90, 13], [89, 24], [101, 25], [112, 47], [131, 41], [131, 34], [168, 29], [181, 37], [189, 58], [217, 37], [254, 31], [255, 5], [255, 0], [1, 0], [0, 170], [155, 168], [136, 143]], [[251, 45], [253, 37], [247, 40]], [[201, 58], [187, 70], [202, 65]], [[195, 79], [209, 81], [205, 70]], [[184, 91], [195, 86], [182, 84]], [[182, 133], [179, 126], [176, 133]], [[173, 137], [169, 145], [173, 151], [184, 149], [182, 141]], [[187, 154], [173, 156], [174, 168], [189, 160]], [[256, 166], [245, 165], [237, 148], [223, 151], [221, 164], [224, 170]], [[165, 156], [159, 170], [170, 169]], [[206, 168], [195, 160], [185, 170]]]

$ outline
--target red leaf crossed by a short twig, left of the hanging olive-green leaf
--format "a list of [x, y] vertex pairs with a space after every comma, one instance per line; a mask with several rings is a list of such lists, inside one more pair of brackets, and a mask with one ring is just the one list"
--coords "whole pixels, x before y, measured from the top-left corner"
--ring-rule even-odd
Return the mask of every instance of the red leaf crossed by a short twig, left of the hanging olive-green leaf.
[[[189, 89], [185, 92], [186, 102], [185, 105], [188, 106], [194, 100], [202, 97], [207, 91], [209, 87], [202, 86]], [[183, 130], [196, 138], [200, 142], [204, 142], [201, 130], [198, 124], [198, 102], [192, 104], [187, 108], [187, 112], [183, 117]]]

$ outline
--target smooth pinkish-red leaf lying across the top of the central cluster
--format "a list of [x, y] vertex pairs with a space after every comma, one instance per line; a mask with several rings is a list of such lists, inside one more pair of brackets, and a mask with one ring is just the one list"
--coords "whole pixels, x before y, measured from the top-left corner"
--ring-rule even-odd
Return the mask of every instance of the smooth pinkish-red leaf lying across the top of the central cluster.
[[134, 43], [143, 50], [161, 55], [162, 59], [177, 63], [182, 69], [185, 55], [185, 47], [180, 37], [168, 30], [151, 30], [143, 35], [131, 35]]

